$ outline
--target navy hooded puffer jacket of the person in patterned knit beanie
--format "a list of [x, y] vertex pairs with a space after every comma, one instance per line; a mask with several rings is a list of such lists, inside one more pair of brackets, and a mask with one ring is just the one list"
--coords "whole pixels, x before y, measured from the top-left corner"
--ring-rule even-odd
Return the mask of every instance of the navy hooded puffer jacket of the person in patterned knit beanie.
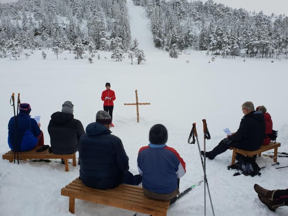
[[86, 127], [79, 140], [80, 178], [93, 188], [108, 189], [122, 183], [122, 174], [129, 170], [128, 156], [122, 141], [98, 122]]

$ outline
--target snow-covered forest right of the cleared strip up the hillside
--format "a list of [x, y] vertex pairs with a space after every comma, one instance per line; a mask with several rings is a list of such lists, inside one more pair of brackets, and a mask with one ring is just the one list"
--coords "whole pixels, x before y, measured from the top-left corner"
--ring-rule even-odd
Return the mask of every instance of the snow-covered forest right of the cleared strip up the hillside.
[[279, 58], [281, 53], [287, 54], [288, 17], [285, 14], [267, 16], [262, 11], [232, 9], [212, 0], [205, 3], [133, 0], [133, 3], [145, 7], [151, 19], [155, 47], [166, 51], [172, 48], [170, 53], [192, 47], [223, 58], [239, 56], [241, 49], [253, 58]]

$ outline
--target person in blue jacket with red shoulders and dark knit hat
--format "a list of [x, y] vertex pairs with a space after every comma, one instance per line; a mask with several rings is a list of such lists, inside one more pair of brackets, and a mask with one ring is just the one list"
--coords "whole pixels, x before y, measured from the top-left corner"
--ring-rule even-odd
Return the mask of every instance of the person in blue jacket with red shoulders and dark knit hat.
[[174, 203], [179, 194], [180, 178], [185, 175], [185, 162], [178, 152], [166, 145], [168, 132], [156, 124], [149, 132], [148, 146], [139, 150], [137, 166], [142, 175], [143, 193], [154, 200]]

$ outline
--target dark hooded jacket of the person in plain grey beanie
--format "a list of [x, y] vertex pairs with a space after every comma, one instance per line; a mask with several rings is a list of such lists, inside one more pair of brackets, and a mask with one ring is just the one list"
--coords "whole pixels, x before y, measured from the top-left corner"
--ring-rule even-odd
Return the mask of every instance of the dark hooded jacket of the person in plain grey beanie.
[[51, 115], [48, 125], [52, 151], [68, 155], [78, 150], [78, 141], [85, 133], [81, 121], [70, 113], [56, 112]]

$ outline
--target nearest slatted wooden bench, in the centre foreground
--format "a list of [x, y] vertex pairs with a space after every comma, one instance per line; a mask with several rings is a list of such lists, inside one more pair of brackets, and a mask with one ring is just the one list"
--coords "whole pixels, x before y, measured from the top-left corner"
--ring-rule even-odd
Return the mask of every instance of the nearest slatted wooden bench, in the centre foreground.
[[99, 190], [84, 185], [79, 178], [63, 187], [61, 195], [69, 197], [69, 211], [72, 214], [75, 213], [75, 198], [153, 216], [167, 215], [170, 203], [170, 200], [145, 197], [142, 187], [121, 184], [113, 189]]

